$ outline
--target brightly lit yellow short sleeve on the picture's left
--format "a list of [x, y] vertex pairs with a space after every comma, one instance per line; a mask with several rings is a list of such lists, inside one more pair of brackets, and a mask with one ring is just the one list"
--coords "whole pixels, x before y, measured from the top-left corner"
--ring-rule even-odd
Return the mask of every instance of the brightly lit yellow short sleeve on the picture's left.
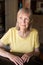
[[11, 29], [9, 29], [4, 35], [3, 37], [0, 39], [0, 42], [2, 42], [3, 44], [7, 45], [10, 43], [10, 33], [11, 33]]

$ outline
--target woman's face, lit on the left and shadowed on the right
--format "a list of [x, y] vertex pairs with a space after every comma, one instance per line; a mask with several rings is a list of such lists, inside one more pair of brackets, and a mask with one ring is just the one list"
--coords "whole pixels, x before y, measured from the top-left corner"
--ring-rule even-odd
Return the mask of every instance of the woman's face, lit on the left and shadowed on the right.
[[20, 29], [27, 29], [29, 26], [29, 20], [29, 14], [24, 12], [20, 13], [17, 17]]

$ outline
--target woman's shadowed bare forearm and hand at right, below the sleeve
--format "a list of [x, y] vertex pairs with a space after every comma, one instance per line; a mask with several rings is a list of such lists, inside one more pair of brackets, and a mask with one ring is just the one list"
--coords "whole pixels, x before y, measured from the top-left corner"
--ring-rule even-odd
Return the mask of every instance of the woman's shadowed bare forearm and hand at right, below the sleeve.
[[39, 48], [35, 48], [34, 52], [25, 53], [21, 58], [23, 62], [25, 63], [25, 62], [28, 62], [32, 56], [39, 56], [39, 54], [40, 54]]

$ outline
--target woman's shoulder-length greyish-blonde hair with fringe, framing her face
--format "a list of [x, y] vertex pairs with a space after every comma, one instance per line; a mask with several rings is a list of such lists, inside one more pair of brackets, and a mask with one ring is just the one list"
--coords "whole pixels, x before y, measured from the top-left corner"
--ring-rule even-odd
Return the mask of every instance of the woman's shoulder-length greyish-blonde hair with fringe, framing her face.
[[[32, 20], [32, 12], [31, 12], [31, 10], [28, 9], [28, 8], [21, 8], [21, 9], [18, 11], [18, 13], [17, 13], [17, 17], [18, 17], [18, 15], [19, 15], [21, 12], [24, 12], [24, 13], [26, 13], [26, 14], [30, 14], [30, 15], [29, 15], [30, 25], [29, 25], [29, 27], [28, 27], [28, 30], [30, 30], [30, 29], [32, 28], [32, 21], [33, 21], [33, 20]], [[20, 30], [18, 21], [16, 22], [16, 29], [17, 29], [17, 30]]]

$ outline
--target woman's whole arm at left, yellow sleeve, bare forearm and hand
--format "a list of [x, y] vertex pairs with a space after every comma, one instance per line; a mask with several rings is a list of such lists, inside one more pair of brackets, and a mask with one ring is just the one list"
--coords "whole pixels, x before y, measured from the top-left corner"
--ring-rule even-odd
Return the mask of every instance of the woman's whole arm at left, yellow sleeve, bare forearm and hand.
[[10, 59], [12, 62], [14, 62], [16, 65], [23, 65], [23, 61], [21, 60], [20, 57], [12, 55], [11, 53], [5, 51], [3, 49], [4, 45], [9, 44], [10, 45], [10, 38], [11, 38], [11, 29], [7, 31], [6, 34], [0, 39], [0, 56], [6, 57]]

